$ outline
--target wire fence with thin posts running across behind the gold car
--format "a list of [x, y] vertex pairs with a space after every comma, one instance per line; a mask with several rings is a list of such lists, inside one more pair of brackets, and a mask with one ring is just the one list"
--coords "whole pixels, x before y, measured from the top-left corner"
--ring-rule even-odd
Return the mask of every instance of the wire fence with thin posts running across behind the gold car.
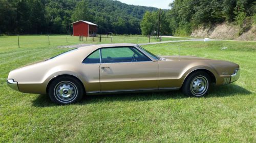
[[70, 35], [16, 35], [0, 36], [0, 48], [54, 47], [79, 43], [148, 43], [162, 41], [162, 37], [96, 35], [95, 37]]

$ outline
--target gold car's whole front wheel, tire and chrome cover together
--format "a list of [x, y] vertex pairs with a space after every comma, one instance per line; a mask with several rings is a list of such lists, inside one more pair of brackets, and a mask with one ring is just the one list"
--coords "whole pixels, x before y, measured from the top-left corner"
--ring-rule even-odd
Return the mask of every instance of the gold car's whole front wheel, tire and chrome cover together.
[[210, 76], [203, 71], [197, 71], [190, 74], [184, 81], [182, 92], [187, 96], [201, 97], [207, 94], [209, 83]]

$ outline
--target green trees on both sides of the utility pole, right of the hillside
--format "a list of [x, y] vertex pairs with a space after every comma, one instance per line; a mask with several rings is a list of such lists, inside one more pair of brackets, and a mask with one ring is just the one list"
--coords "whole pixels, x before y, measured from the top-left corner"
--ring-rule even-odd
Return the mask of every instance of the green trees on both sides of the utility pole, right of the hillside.
[[[199, 26], [230, 22], [240, 27], [242, 34], [256, 20], [254, 0], [175, 0], [170, 10], [161, 13], [160, 32], [190, 35]], [[146, 12], [141, 21], [143, 35], [158, 30], [159, 12]]]

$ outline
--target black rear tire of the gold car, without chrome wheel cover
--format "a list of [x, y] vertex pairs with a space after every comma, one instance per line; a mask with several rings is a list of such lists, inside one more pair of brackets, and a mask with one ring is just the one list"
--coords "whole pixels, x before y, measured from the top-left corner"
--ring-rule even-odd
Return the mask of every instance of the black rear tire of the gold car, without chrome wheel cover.
[[[56, 88], [57, 84], [59, 84], [60, 82], [63, 82], [63, 81], [68, 81], [68, 82], [73, 83], [77, 89], [77, 95], [71, 101], [61, 101], [61, 99], [58, 99], [56, 97], [57, 95], [55, 95], [55, 88]], [[57, 104], [76, 103], [81, 100], [83, 94], [84, 94], [84, 89], [83, 89], [83, 85], [81, 84], [81, 82], [79, 80], [77, 80], [73, 77], [69, 77], [69, 76], [57, 77], [56, 79], [54, 79], [51, 82], [50, 87], [49, 87], [49, 97], [54, 103], [57, 103]]]

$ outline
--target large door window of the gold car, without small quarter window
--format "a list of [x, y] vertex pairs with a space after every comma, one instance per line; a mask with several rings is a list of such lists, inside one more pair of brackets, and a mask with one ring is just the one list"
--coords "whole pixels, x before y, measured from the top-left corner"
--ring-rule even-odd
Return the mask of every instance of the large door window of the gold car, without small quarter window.
[[151, 61], [134, 47], [113, 47], [101, 49], [102, 63]]

